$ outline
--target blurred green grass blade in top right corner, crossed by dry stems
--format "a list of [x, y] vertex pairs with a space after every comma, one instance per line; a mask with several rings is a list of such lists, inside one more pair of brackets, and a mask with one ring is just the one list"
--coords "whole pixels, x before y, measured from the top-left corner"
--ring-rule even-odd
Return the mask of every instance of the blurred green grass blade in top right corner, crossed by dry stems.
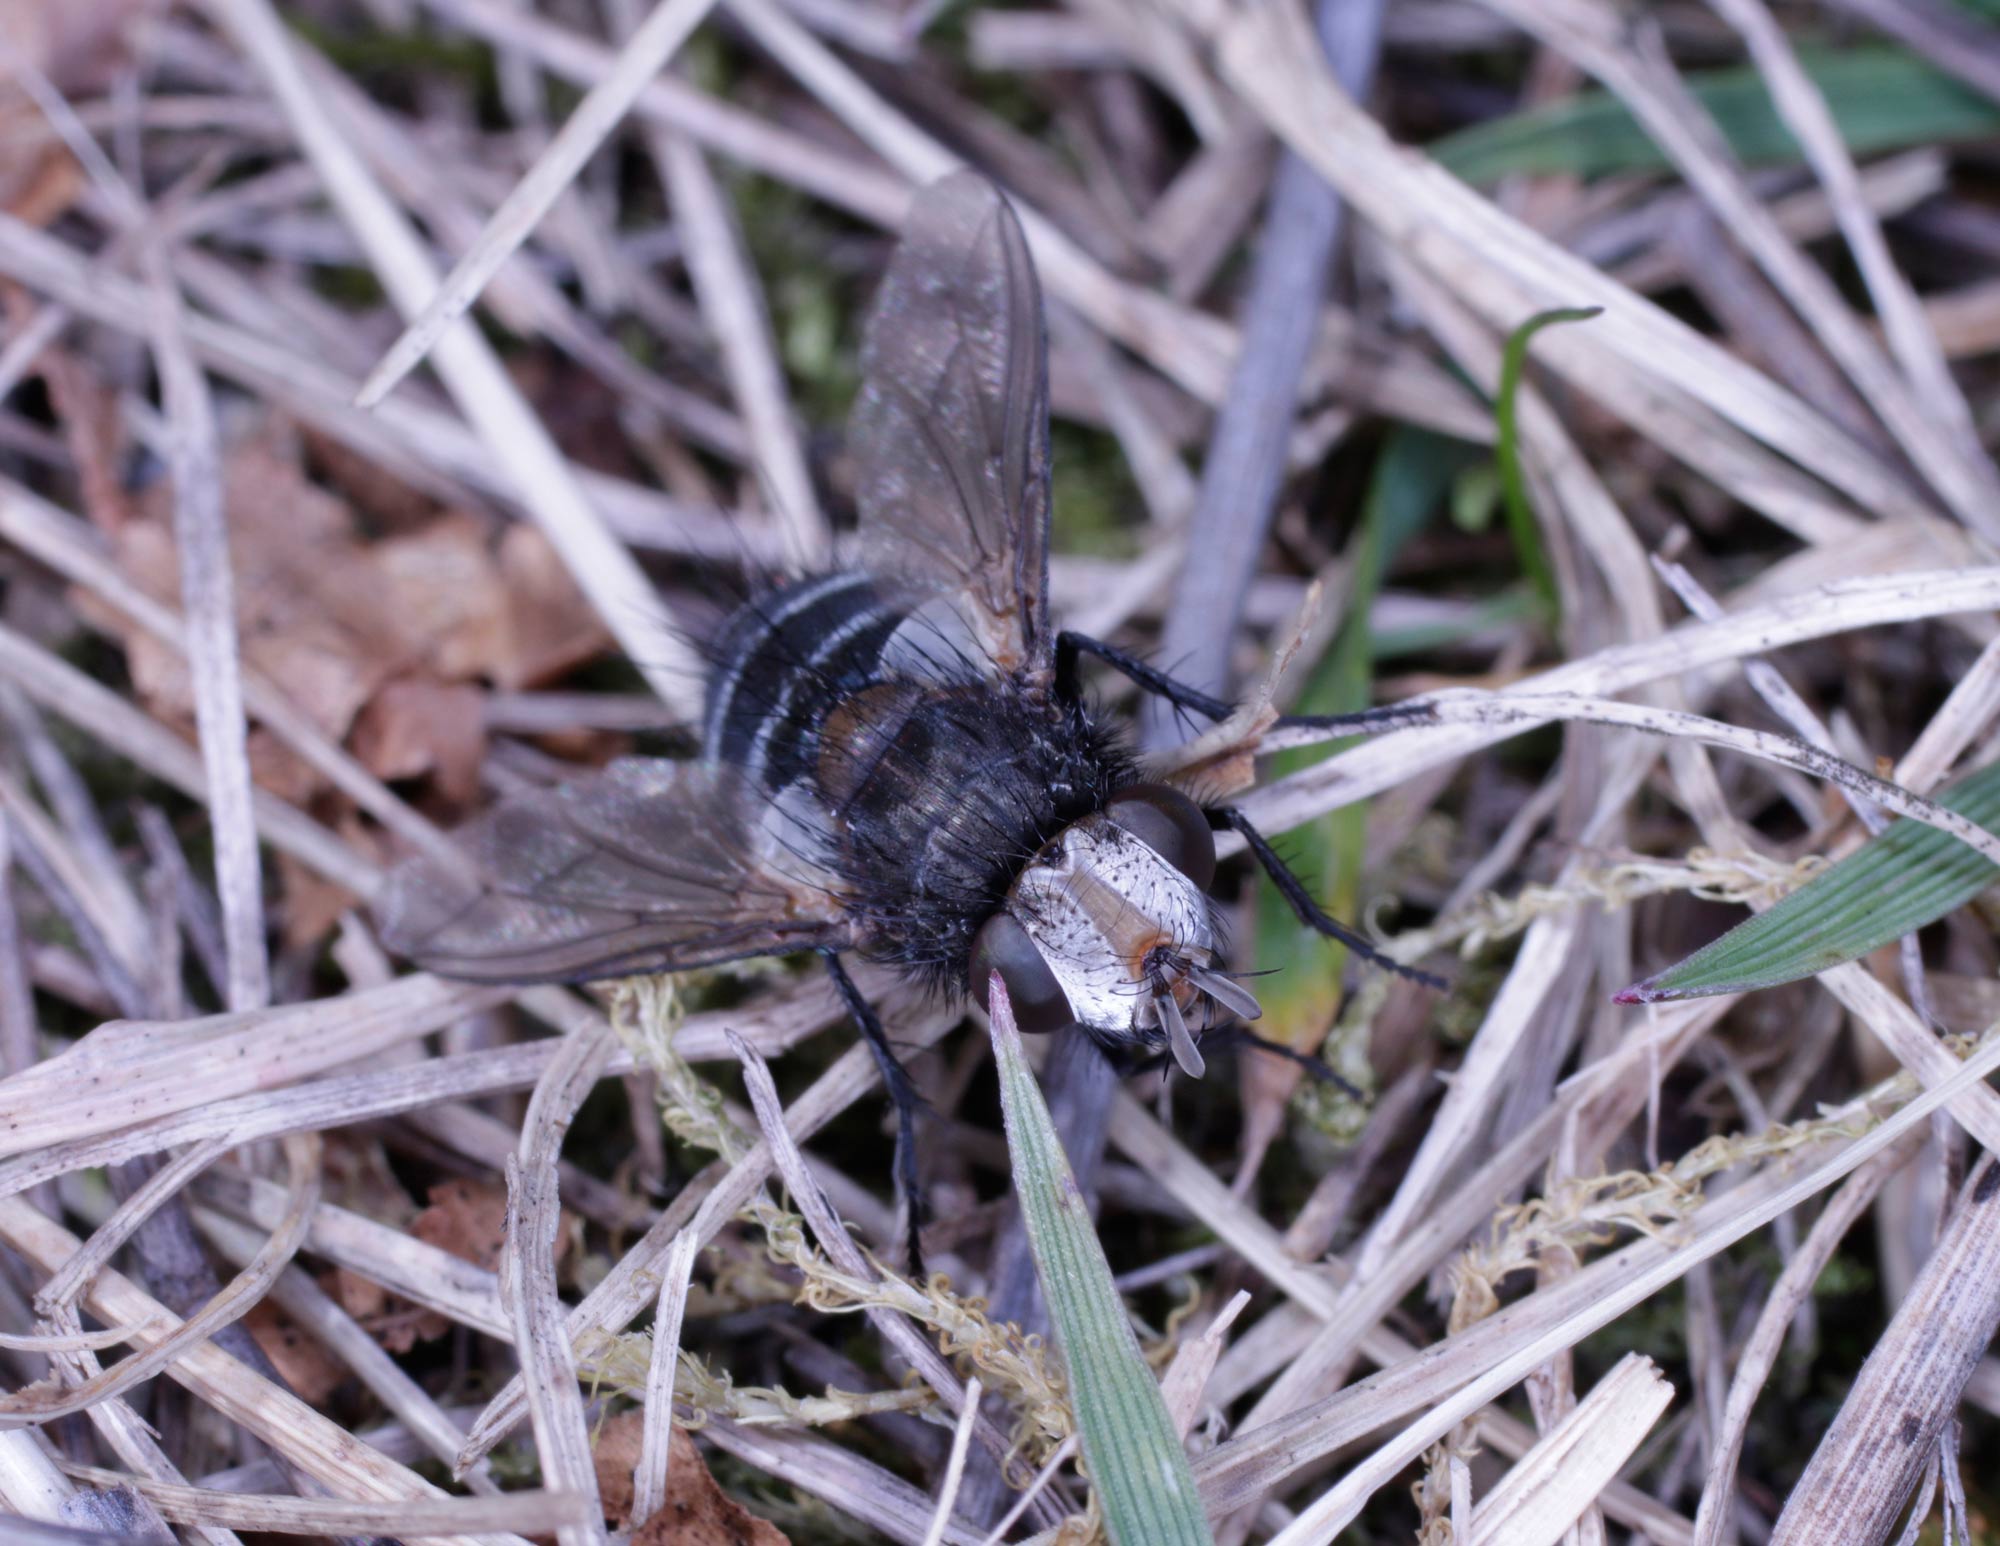
[[[2000, 106], [1902, 48], [1800, 50], [1800, 62], [1856, 156], [2000, 130]], [[1690, 74], [1688, 84], [1738, 160], [1750, 166], [1800, 160], [1798, 142], [1754, 68], [1706, 70]], [[1590, 178], [1668, 170], [1660, 148], [1608, 92], [1582, 92], [1550, 108], [1476, 124], [1434, 142], [1430, 152], [1474, 184], [1516, 172]]]

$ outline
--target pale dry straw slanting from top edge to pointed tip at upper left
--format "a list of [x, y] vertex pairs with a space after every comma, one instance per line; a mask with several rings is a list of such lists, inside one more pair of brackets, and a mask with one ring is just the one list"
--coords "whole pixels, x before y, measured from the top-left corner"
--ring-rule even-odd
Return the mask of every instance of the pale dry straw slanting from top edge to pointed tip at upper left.
[[500, 264], [528, 240], [528, 234], [542, 222], [542, 216], [570, 186], [584, 162], [624, 122], [634, 98], [666, 68], [666, 62], [702, 24], [712, 6], [714, 0], [660, 0], [654, 6], [620, 50], [612, 72], [576, 104], [576, 112], [564, 120], [562, 130], [548, 142], [540, 160], [494, 210], [480, 238], [436, 286], [434, 294], [422, 302], [422, 310], [412, 316], [410, 326], [382, 356], [382, 362], [368, 372], [368, 380], [362, 382], [362, 390], [354, 398], [356, 404], [362, 408], [380, 404], [396, 382], [430, 354], [446, 328], [466, 314]]

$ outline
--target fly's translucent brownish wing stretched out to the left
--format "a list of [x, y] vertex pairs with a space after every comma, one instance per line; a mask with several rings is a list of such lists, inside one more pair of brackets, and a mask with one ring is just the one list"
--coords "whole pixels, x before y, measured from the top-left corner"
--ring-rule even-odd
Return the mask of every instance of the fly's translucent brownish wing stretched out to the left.
[[588, 982], [848, 942], [808, 834], [734, 768], [626, 758], [502, 800], [376, 902], [382, 942], [440, 976]]

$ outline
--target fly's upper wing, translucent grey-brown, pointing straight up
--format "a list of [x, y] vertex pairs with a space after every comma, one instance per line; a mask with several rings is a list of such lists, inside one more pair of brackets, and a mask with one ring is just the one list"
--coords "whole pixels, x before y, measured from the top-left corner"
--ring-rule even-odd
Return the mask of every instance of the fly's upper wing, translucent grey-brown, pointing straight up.
[[962, 598], [1008, 672], [1048, 670], [1048, 336], [1020, 220], [954, 172], [916, 196], [862, 344], [864, 562]]

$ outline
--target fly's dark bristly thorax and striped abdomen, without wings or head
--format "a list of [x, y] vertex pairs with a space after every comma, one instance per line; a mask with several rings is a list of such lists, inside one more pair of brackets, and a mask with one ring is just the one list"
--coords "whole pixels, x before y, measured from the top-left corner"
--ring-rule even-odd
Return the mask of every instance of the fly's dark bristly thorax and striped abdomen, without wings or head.
[[716, 640], [704, 752], [824, 822], [862, 948], [962, 992], [972, 936], [1028, 860], [1130, 784], [1082, 712], [970, 658], [924, 596], [860, 572], [792, 582]]

